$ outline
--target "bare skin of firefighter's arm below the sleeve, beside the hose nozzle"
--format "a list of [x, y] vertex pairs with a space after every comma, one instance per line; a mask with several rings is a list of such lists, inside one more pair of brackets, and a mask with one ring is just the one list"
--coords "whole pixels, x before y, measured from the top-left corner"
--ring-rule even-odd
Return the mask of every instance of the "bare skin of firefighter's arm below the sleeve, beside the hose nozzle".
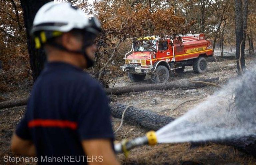
[[86, 156], [91, 158], [89, 165], [119, 165], [109, 139], [83, 140], [82, 146]]

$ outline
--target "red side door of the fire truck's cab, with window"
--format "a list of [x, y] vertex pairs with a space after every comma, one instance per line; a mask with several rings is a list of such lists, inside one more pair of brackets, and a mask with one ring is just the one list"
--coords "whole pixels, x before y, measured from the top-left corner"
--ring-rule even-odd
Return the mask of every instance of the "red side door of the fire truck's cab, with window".
[[168, 47], [167, 40], [162, 40], [158, 42], [158, 58], [159, 60], [165, 60], [166, 62], [170, 62], [171, 57], [171, 51]]

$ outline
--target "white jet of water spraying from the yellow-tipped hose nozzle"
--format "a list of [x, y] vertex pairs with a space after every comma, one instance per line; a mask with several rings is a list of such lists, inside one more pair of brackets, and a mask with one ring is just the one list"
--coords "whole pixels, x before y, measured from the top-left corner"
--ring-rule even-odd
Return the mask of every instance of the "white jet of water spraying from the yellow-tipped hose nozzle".
[[256, 132], [256, 68], [230, 81], [156, 132], [159, 143], [218, 140]]

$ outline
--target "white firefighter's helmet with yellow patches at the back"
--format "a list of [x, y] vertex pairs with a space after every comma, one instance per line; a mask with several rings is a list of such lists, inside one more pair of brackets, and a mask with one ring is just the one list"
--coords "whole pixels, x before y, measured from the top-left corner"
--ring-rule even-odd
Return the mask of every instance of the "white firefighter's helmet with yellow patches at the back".
[[88, 18], [81, 9], [70, 3], [56, 4], [52, 1], [38, 10], [30, 34], [35, 37], [36, 48], [40, 48], [41, 43], [72, 29], [84, 30], [97, 36], [101, 26], [97, 18]]

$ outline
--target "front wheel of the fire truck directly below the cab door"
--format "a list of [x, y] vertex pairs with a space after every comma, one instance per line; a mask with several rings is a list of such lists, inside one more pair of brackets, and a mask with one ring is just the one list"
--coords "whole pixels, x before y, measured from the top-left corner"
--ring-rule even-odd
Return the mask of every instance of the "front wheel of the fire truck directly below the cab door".
[[163, 65], [157, 66], [154, 74], [151, 75], [152, 83], [166, 83], [169, 79], [169, 70]]

